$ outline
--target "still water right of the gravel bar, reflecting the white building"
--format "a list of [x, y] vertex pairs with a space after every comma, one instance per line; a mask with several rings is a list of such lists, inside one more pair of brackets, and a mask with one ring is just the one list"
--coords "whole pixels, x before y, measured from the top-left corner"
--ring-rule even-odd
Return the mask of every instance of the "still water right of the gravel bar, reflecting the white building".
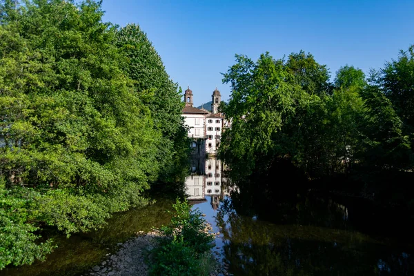
[[271, 179], [239, 181], [236, 187], [223, 177], [221, 161], [197, 164], [201, 170], [186, 181], [188, 198], [197, 199], [194, 208], [220, 232], [214, 250], [230, 265], [229, 273], [414, 275], [411, 239], [380, 231], [401, 227], [378, 221], [366, 204], [296, 193], [277, 197]]

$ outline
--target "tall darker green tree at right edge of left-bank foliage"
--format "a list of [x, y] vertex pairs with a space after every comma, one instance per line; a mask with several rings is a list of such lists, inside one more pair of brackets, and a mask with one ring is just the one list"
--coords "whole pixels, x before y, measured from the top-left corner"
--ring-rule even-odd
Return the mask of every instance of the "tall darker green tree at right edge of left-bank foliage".
[[172, 82], [161, 57], [138, 25], [119, 29], [116, 45], [127, 57], [123, 66], [126, 75], [134, 81], [135, 91], [150, 108], [155, 129], [161, 134], [157, 141], [161, 180], [172, 181], [187, 157], [189, 144], [181, 117], [181, 90], [177, 90], [177, 83]]

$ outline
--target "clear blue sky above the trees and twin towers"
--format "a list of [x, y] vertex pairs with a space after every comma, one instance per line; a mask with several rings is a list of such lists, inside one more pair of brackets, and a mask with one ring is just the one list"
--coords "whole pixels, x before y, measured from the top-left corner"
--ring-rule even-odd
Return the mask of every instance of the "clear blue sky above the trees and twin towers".
[[413, 0], [133, 1], [103, 0], [104, 21], [138, 23], [161, 55], [170, 77], [195, 105], [222, 99], [230, 86], [220, 72], [235, 54], [279, 59], [305, 50], [335, 72], [346, 64], [368, 72], [414, 43]]

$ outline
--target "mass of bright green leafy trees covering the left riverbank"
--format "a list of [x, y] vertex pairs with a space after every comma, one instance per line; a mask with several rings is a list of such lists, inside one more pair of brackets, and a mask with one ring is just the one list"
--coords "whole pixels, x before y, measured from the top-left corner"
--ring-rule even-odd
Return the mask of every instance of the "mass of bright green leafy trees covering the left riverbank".
[[103, 23], [99, 1], [0, 2], [0, 269], [146, 204], [186, 157], [182, 104], [138, 26]]

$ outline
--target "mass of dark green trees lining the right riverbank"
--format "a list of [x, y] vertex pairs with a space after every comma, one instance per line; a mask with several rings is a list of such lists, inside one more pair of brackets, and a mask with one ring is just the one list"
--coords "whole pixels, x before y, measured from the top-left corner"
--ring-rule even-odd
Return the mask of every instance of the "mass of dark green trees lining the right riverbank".
[[[232, 94], [223, 108], [232, 127], [224, 132], [220, 154], [244, 175], [288, 162], [308, 179], [342, 175], [359, 183], [358, 193], [381, 192], [388, 199], [397, 193], [396, 201], [406, 204], [414, 192], [408, 181], [414, 167], [413, 72], [413, 46], [368, 78], [344, 66], [333, 83], [326, 66], [303, 51], [286, 59], [266, 53], [256, 62], [236, 55], [224, 73]], [[384, 175], [405, 181], [395, 184]], [[337, 188], [331, 182], [328, 189]]]

